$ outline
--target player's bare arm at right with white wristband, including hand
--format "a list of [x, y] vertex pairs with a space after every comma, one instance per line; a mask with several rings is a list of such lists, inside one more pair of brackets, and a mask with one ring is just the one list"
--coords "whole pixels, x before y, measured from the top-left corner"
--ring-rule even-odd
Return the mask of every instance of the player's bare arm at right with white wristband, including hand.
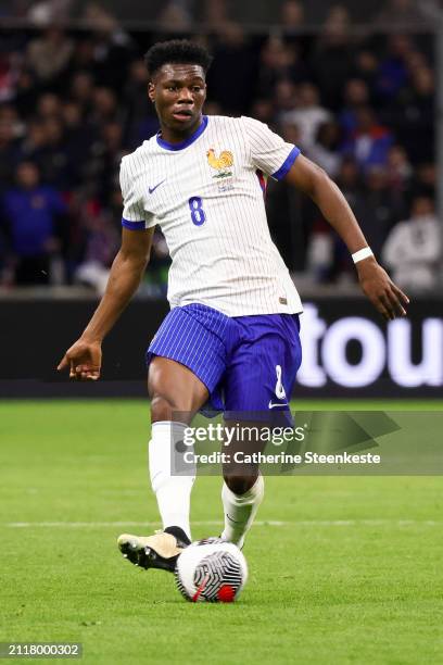
[[[368, 247], [346, 199], [322, 168], [300, 154], [284, 180], [306, 193], [318, 205], [351, 254]], [[384, 318], [391, 321], [406, 315], [405, 305], [409, 299], [390, 279], [374, 255], [358, 261], [355, 267], [364, 293]]]

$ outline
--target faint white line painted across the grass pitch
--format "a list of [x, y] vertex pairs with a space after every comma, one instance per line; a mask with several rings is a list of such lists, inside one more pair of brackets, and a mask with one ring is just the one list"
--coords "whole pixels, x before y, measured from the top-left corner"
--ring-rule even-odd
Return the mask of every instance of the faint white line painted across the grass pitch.
[[[203, 522], [192, 522], [193, 526], [220, 526], [221, 522], [217, 519], [208, 519]], [[441, 526], [442, 520], [435, 519], [300, 519], [292, 522], [279, 520], [257, 520], [254, 526], [258, 527], [349, 527], [349, 526]], [[159, 522], [9, 522], [1, 526], [9, 528], [66, 528], [66, 529], [86, 529], [86, 528], [126, 528], [126, 527], [159, 527]]]

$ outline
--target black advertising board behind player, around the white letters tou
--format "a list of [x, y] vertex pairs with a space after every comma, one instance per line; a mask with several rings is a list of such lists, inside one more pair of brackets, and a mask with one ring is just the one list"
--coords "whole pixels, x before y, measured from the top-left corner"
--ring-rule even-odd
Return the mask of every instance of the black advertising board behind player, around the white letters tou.
[[[66, 374], [59, 375], [58, 363], [84, 329], [97, 306], [96, 299], [24, 300], [11, 299], [1, 303], [0, 398], [13, 397], [144, 397], [144, 352], [159, 325], [168, 311], [164, 300], [135, 300], [103, 344], [104, 362], [100, 381], [69, 382]], [[328, 326], [347, 316], [362, 316], [385, 331], [385, 324], [372, 306], [358, 298], [305, 298], [305, 306], [314, 304]], [[410, 305], [413, 328], [412, 361], [421, 357], [421, 324], [425, 318], [441, 318], [443, 301], [419, 300]], [[303, 315], [302, 315], [303, 327]], [[306, 330], [308, 334], [308, 330]], [[351, 337], [351, 336], [350, 336]], [[321, 344], [321, 340], [319, 346]], [[358, 363], [360, 346], [350, 341], [346, 357]], [[438, 359], [438, 355], [435, 357]], [[438, 362], [438, 361], [436, 361]], [[441, 398], [443, 386], [402, 388], [384, 371], [372, 385], [346, 388], [329, 380], [325, 387], [307, 388], [298, 385], [294, 397], [433, 397]]]

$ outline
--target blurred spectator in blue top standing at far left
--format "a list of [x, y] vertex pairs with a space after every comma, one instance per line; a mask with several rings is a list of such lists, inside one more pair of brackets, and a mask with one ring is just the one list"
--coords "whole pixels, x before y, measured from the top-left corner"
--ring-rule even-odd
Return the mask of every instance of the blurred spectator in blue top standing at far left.
[[17, 285], [48, 284], [51, 258], [60, 250], [58, 225], [66, 213], [62, 198], [52, 187], [39, 184], [38, 167], [22, 162], [16, 187], [3, 197], [8, 236], [13, 250]]

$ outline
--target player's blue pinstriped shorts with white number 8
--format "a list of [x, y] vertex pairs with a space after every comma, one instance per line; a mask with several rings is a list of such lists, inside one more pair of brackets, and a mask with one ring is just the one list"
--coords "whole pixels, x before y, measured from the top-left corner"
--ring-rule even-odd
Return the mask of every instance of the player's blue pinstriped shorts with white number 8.
[[289, 412], [302, 362], [298, 314], [229, 317], [203, 304], [174, 308], [148, 351], [188, 367], [215, 411]]

